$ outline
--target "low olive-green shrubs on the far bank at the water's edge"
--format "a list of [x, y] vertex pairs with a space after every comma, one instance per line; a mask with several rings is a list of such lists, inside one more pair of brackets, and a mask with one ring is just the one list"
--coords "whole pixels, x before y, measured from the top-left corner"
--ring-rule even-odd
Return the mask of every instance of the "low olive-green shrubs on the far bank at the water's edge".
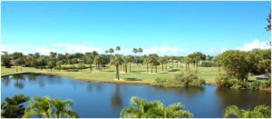
[[184, 86], [201, 86], [205, 80], [199, 79], [197, 74], [181, 73], [176, 74], [175, 78], [156, 78], [152, 85], [165, 87], [184, 87]]

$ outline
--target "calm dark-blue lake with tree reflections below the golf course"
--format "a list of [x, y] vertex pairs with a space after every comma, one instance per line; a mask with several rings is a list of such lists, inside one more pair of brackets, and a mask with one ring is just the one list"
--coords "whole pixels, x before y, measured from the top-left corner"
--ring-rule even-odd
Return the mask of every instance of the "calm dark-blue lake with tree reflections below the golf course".
[[2, 97], [15, 94], [49, 95], [73, 100], [73, 110], [80, 117], [119, 117], [130, 104], [131, 96], [160, 100], [165, 104], [185, 104], [194, 117], [222, 117], [226, 106], [253, 108], [271, 104], [271, 92], [231, 90], [206, 85], [202, 88], [163, 88], [151, 85], [102, 84], [44, 74], [15, 74], [1, 78]]

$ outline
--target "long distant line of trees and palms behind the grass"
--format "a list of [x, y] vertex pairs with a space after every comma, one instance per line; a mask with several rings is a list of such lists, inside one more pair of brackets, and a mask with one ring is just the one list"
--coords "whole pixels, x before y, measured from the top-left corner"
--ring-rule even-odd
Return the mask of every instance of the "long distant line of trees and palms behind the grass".
[[[113, 48], [110, 48], [105, 52], [105, 54], [98, 54], [93, 51], [91, 53], [75, 53], [75, 54], [58, 54], [51, 52], [50, 55], [40, 55], [39, 53], [24, 55], [20, 52], [15, 52], [13, 54], [8, 54], [3, 52], [2, 55], [2, 66], [10, 68], [11, 66], [16, 66], [16, 72], [22, 70], [22, 67], [35, 67], [43, 70], [44, 68], [49, 69], [59, 69], [67, 70], [69, 68], [62, 67], [63, 64], [72, 64], [72, 69], [83, 69], [86, 68], [85, 64], [89, 65], [90, 72], [92, 68], [95, 68], [98, 71], [102, 71], [102, 67], [105, 67], [106, 64], [111, 64], [111, 61], [116, 55], [121, 57], [121, 64], [119, 64], [120, 69], [123, 72], [131, 72], [131, 64], [142, 65], [146, 64], [146, 71], [149, 73], [157, 73], [158, 65], [161, 65], [161, 71], [167, 71], [169, 63], [171, 67], [175, 64], [184, 62], [186, 64], [186, 71], [189, 70], [189, 64], [194, 66], [199, 65], [200, 60], [210, 59], [210, 55], [206, 56], [202, 53], [193, 53], [188, 56], [159, 56], [157, 54], [151, 55], [141, 55], [141, 48], [133, 48], [132, 53], [135, 55], [120, 55], [121, 47], [117, 46], [115, 51]], [[113, 54], [115, 52], [115, 55]], [[75, 64], [77, 64], [75, 67]], [[72, 70], [73, 71], [73, 70]], [[196, 69], [197, 72], [197, 69]]]

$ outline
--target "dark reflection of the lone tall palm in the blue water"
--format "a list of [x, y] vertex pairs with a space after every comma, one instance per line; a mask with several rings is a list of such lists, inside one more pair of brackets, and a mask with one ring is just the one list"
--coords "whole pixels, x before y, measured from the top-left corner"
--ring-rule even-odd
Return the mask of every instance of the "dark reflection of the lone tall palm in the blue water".
[[121, 107], [122, 101], [120, 97], [119, 84], [115, 84], [115, 93], [112, 95], [112, 106], [115, 108]]

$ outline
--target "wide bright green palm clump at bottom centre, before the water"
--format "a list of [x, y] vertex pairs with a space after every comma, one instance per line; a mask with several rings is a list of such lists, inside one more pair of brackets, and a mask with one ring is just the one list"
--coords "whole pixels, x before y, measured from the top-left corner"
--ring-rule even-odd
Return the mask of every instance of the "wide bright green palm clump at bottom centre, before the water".
[[180, 103], [165, 106], [160, 101], [148, 102], [139, 97], [131, 97], [131, 106], [121, 111], [121, 118], [177, 118], [192, 117]]

